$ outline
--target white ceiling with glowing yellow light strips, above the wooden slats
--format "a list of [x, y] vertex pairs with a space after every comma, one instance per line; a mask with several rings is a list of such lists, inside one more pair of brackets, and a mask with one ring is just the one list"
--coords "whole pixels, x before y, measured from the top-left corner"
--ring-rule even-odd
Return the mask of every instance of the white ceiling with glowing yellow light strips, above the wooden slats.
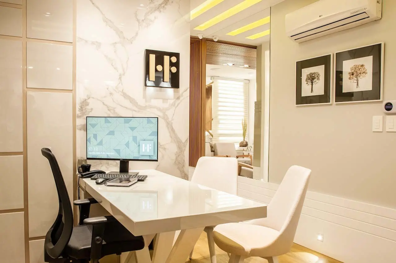
[[[202, 33], [205, 38], [218, 36], [219, 40], [230, 41], [235, 43], [259, 46], [270, 39], [270, 6], [274, 6], [283, 0], [190, 0], [191, 15], [190, 33], [192, 36], [198, 36]], [[208, 8], [202, 8], [208, 5]], [[212, 7], [213, 6], [213, 7]], [[245, 8], [244, 10], [242, 10]], [[205, 11], [206, 10], [206, 11]], [[204, 11], [203, 13], [201, 13]], [[224, 13], [225, 12], [225, 13]], [[228, 15], [227, 15], [228, 14]], [[232, 15], [230, 15], [232, 14]], [[226, 17], [226, 18], [225, 18]], [[225, 18], [222, 21], [222, 18]], [[210, 23], [211, 21], [218, 23]], [[254, 23], [256, 22], [256, 23]], [[251, 29], [242, 28], [251, 23]], [[202, 29], [202, 30], [201, 30]], [[239, 34], [231, 33], [240, 29]], [[255, 34], [266, 32], [265, 36], [255, 39], [248, 39]], [[234, 36], [227, 33], [236, 34]]]

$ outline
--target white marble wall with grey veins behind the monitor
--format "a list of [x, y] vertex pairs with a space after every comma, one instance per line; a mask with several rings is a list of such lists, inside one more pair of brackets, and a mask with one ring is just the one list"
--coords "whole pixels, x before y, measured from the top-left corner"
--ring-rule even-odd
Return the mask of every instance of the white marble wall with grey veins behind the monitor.
[[[130, 162], [188, 179], [190, 1], [77, 1], [77, 157], [86, 116], [159, 118], [158, 162]], [[145, 49], [180, 53], [179, 89], [144, 86]], [[116, 170], [116, 161], [89, 161]]]

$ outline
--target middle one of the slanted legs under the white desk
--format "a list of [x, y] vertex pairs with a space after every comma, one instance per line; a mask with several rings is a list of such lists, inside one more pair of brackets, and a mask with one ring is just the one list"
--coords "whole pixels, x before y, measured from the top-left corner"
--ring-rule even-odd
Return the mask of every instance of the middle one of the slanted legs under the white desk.
[[154, 239], [154, 253], [152, 263], [165, 263], [172, 250], [175, 231], [157, 234]]

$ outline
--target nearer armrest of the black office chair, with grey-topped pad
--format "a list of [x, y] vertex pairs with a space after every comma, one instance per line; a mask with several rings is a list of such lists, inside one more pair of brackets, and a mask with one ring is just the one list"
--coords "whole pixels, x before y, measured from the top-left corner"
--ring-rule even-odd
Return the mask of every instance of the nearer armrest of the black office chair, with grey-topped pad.
[[115, 221], [112, 216], [99, 216], [84, 219], [84, 224], [92, 225], [91, 238], [91, 261], [99, 263], [102, 254], [103, 236], [105, 235], [106, 223]]

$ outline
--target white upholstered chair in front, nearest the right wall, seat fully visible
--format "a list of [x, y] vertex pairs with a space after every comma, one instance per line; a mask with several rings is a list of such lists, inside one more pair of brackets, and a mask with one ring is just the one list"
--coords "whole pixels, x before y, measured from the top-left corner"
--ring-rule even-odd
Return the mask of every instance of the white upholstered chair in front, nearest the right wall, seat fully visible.
[[[225, 158], [227, 159], [227, 158]], [[278, 263], [278, 255], [290, 251], [307, 193], [311, 170], [291, 166], [267, 208], [267, 217], [218, 225], [215, 243], [231, 254], [229, 263], [247, 257], [263, 257]]]

